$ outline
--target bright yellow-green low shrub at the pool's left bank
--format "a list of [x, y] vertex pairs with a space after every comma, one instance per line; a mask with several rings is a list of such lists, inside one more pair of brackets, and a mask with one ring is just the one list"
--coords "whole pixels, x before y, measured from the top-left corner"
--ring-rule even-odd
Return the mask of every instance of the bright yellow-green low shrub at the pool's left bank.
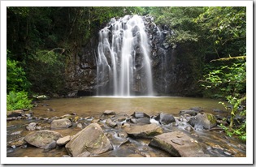
[[11, 91], [7, 94], [7, 111], [14, 109], [31, 109], [31, 101], [28, 99], [27, 92], [15, 92]]

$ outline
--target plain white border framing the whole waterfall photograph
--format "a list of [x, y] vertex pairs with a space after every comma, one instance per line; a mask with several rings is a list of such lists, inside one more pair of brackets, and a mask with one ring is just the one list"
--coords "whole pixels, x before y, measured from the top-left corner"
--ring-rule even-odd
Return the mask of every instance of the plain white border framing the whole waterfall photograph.
[[[246, 6], [247, 143], [239, 158], [36, 158], [7, 157], [5, 111], [7, 76], [7, 6]], [[1, 164], [253, 164], [253, 1], [2, 1], [1, 2]]]

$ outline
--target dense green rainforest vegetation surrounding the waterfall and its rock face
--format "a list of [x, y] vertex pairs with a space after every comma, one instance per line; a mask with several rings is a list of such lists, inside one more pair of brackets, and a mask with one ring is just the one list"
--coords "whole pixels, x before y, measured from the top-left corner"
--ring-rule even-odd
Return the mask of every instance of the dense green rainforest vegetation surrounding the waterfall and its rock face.
[[[7, 110], [30, 108], [36, 93], [65, 93], [66, 66], [111, 18], [151, 15], [171, 29], [195, 94], [218, 98], [231, 113], [228, 135], [246, 139], [245, 7], [7, 7]], [[171, 96], [171, 95], [170, 95]], [[227, 102], [232, 105], [228, 108]]]

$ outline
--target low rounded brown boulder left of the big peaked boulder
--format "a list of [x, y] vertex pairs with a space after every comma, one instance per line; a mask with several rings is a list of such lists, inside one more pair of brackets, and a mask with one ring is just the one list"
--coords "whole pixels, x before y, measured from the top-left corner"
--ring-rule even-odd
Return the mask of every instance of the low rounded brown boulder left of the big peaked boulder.
[[24, 140], [37, 148], [45, 148], [47, 144], [59, 138], [62, 138], [59, 132], [44, 130], [31, 132], [24, 137]]

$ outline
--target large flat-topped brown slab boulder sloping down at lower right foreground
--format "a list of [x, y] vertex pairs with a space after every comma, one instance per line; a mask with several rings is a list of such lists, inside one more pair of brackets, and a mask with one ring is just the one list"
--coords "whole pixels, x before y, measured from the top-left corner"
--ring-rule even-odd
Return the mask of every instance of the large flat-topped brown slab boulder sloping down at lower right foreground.
[[160, 148], [176, 157], [203, 157], [209, 156], [202, 152], [202, 147], [196, 140], [181, 131], [173, 131], [154, 136], [150, 146]]

